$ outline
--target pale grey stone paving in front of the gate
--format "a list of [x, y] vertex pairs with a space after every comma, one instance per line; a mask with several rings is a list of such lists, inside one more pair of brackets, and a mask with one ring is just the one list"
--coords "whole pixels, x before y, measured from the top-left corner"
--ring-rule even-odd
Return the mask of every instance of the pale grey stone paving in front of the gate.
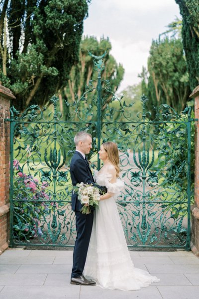
[[6, 250], [0, 299], [198, 299], [199, 258], [191, 252], [132, 252], [134, 266], [160, 278], [139, 291], [70, 284], [73, 251]]

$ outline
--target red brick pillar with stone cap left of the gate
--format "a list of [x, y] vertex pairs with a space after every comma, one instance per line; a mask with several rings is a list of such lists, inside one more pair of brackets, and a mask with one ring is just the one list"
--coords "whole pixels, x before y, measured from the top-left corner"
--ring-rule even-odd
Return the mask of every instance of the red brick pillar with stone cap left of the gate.
[[9, 118], [10, 99], [15, 99], [8, 88], [0, 85], [0, 254], [8, 247], [9, 239]]

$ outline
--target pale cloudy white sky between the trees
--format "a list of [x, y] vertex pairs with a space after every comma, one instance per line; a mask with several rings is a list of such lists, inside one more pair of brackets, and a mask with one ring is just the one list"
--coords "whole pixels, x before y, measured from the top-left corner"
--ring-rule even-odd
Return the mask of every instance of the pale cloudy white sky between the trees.
[[125, 69], [118, 92], [140, 82], [138, 74], [147, 66], [153, 39], [179, 17], [175, 0], [92, 0], [84, 35], [108, 37], [111, 54]]

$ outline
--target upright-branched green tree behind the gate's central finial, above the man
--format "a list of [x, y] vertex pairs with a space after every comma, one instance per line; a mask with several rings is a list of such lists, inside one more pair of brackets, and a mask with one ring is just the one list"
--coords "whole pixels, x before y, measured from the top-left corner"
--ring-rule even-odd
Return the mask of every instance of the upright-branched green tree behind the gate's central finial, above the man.
[[[79, 61], [70, 71], [66, 86], [60, 90], [60, 111], [66, 121], [67, 137], [65, 138], [63, 149], [70, 156], [73, 153], [73, 135], [77, 131], [86, 130], [92, 134], [93, 149], [89, 157], [99, 149], [97, 141], [106, 131], [106, 126], [100, 126], [100, 120], [114, 121], [120, 116], [117, 109], [119, 100], [114, 95], [124, 74], [121, 64], [118, 64], [109, 53], [111, 49], [110, 41], [96, 37], [85, 37], [80, 44]], [[106, 53], [105, 53], [106, 51]], [[103, 56], [101, 67], [101, 91], [100, 102], [98, 101], [98, 71], [96, 70], [97, 59], [95, 56]], [[102, 62], [101, 60], [101, 62]], [[109, 83], [108, 83], [109, 82]], [[100, 103], [100, 109], [98, 104]], [[116, 108], [115, 108], [116, 107]], [[120, 109], [121, 110], [121, 109]]]

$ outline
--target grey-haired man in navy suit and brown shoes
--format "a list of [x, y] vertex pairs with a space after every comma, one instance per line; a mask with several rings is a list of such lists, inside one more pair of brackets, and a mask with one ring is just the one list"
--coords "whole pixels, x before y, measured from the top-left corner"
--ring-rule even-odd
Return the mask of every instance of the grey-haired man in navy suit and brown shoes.
[[[71, 159], [70, 172], [73, 186], [77, 183], [93, 184], [94, 178], [89, 167], [86, 154], [92, 149], [92, 136], [91, 134], [81, 131], [78, 132], [74, 138], [76, 145], [76, 151]], [[103, 192], [107, 192], [105, 187], [99, 187]], [[75, 247], [73, 252], [73, 269], [71, 274], [72, 285], [82, 286], [94, 286], [96, 283], [92, 280], [88, 280], [83, 276], [83, 270], [87, 258], [87, 251], [91, 238], [94, 209], [91, 208], [90, 214], [82, 214], [80, 212], [83, 205], [78, 199], [78, 195], [72, 193], [72, 210], [75, 211], [76, 216], [76, 230], [77, 238], [75, 241]]]

